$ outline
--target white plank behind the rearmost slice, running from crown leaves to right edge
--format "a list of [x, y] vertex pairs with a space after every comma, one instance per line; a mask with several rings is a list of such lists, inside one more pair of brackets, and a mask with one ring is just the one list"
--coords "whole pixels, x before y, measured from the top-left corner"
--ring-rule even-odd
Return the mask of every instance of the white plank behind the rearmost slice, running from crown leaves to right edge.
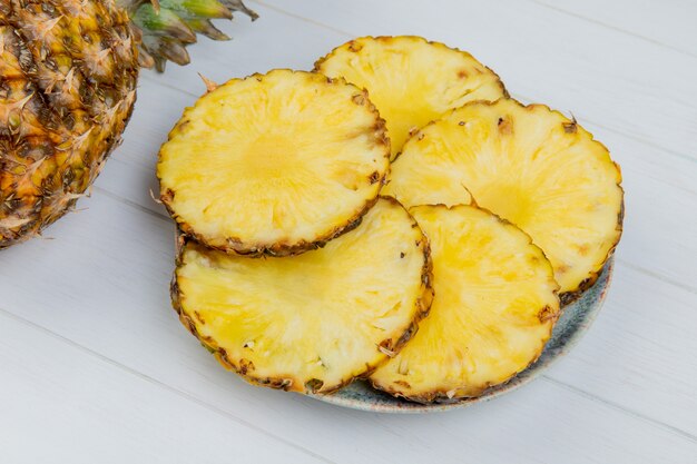
[[[315, 57], [351, 37], [421, 34], [471, 51], [499, 72], [513, 93], [697, 158], [697, 58], [684, 52], [516, 0], [462, 1], [441, 8], [419, 0], [399, 6], [371, 0], [351, 6], [338, 0], [266, 0], [255, 2], [255, 8], [263, 13], [262, 20], [233, 47], [213, 51], [206, 46], [194, 51], [198, 69], [225, 73], [232, 68], [244, 75], [248, 73], [246, 63], [257, 63], [259, 55], [273, 58], [265, 61], [266, 67], [278, 61], [282, 67], [310, 67]], [[284, 12], [289, 14], [278, 18]], [[326, 26], [321, 38], [312, 32], [322, 30], [317, 23]], [[311, 32], [312, 40], [303, 43], [301, 38]], [[697, 41], [694, 34], [693, 30], [693, 41]], [[297, 59], [298, 47], [310, 55]], [[276, 59], [282, 52], [288, 57]], [[220, 66], [233, 59], [235, 66]], [[190, 86], [193, 80], [186, 80], [186, 75], [175, 70], [164, 79]]]

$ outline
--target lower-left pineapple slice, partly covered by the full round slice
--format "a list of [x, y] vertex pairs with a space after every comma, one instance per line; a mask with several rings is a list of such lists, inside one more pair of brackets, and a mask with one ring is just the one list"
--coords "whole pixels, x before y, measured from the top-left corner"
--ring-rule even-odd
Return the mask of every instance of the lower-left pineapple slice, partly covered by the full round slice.
[[257, 385], [328, 393], [393, 356], [432, 298], [428, 240], [393, 199], [324, 248], [248, 259], [184, 245], [173, 283], [180, 319], [220, 363]]

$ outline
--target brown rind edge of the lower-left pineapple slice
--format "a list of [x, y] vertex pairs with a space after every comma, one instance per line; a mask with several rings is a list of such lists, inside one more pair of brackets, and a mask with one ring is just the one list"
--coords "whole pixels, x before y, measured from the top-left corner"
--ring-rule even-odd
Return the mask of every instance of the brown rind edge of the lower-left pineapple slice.
[[[379, 201], [386, 201], [392, 205], [396, 205], [400, 208], [404, 208], [396, 199], [392, 197], [381, 196], [379, 197]], [[412, 220], [412, 228], [420, 229], [416, 220], [413, 218], [409, 211], [405, 210]], [[433, 290], [433, 263], [431, 260], [431, 249], [428, 237], [422, 234], [422, 239], [416, 243], [416, 248], [420, 253], [423, 254], [423, 266], [421, 268], [421, 295], [416, 299], [416, 310], [415, 317], [412, 319], [409, 327], [399, 336], [392, 338], [385, 338], [381, 343], [377, 344], [379, 351], [381, 352], [381, 356], [377, 356], [375, 359], [365, 363], [365, 371], [359, 376], [352, 376], [345, 378], [343, 382], [331, 385], [331, 386], [322, 386], [314, 387], [313, 385], [303, 384], [302, 382], [295, 382], [292, 375], [285, 376], [258, 376], [254, 373], [254, 364], [246, 362], [245, 359], [240, 359], [240, 362], [235, 363], [228, 357], [227, 352], [218, 346], [216, 340], [210, 337], [203, 336], [197, 329], [197, 324], [200, 320], [196, 322], [194, 318], [184, 309], [183, 307], [183, 293], [177, 284], [177, 273], [171, 279], [170, 284], [170, 297], [171, 297], [171, 306], [174, 310], [177, 313], [179, 317], [179, 322], [184, 325], [184, 327], [194, 335], [209, 353], [212, 353], [215, 358], [220, 363], [220, 365], [236, 374], [240, 375], [247, 383], [268, 387], [274, 389], [283, 389], [285, 392], [296, 392], [302, 394], [331, 394], [334, 393], [346, 385], [351, 384], [353, 381], [359, 378], [369, 378], [375, 369], [380, 366], [384, 365], [389, 362], [389, 359], [400, 353], [400, 351], [408, 345], [408, 343], [413, 338], [413, 336], [419, 330], [419, 324], [429, 316], [429, 312], [431, 309], [431, 305], [434, 298]], [[189, 243], [195, 243], [190, 237], [186, 236], [178, 227], [175, 233], [175, 250], [176, 250], [176, 267], [178, 268], [183, 264], [184, 251]]]

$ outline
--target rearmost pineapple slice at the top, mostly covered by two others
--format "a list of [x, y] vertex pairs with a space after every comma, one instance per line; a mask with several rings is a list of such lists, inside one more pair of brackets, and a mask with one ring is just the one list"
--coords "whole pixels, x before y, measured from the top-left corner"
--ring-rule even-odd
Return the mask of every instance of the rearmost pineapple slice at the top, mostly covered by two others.
[[421, 37], [363, 37], [315, 63], [365, 88], [387, 124], [392, 158], [409, 135], [468, 101], [507, 95], [499, 77], [470, 53]]

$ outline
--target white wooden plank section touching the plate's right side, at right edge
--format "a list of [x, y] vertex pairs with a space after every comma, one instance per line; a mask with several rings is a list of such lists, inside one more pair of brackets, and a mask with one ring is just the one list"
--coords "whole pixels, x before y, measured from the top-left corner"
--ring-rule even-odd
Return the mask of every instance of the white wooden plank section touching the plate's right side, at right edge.
[[697, 436], [696, 304], [620, 265], [598, 320], [548, 376]]

